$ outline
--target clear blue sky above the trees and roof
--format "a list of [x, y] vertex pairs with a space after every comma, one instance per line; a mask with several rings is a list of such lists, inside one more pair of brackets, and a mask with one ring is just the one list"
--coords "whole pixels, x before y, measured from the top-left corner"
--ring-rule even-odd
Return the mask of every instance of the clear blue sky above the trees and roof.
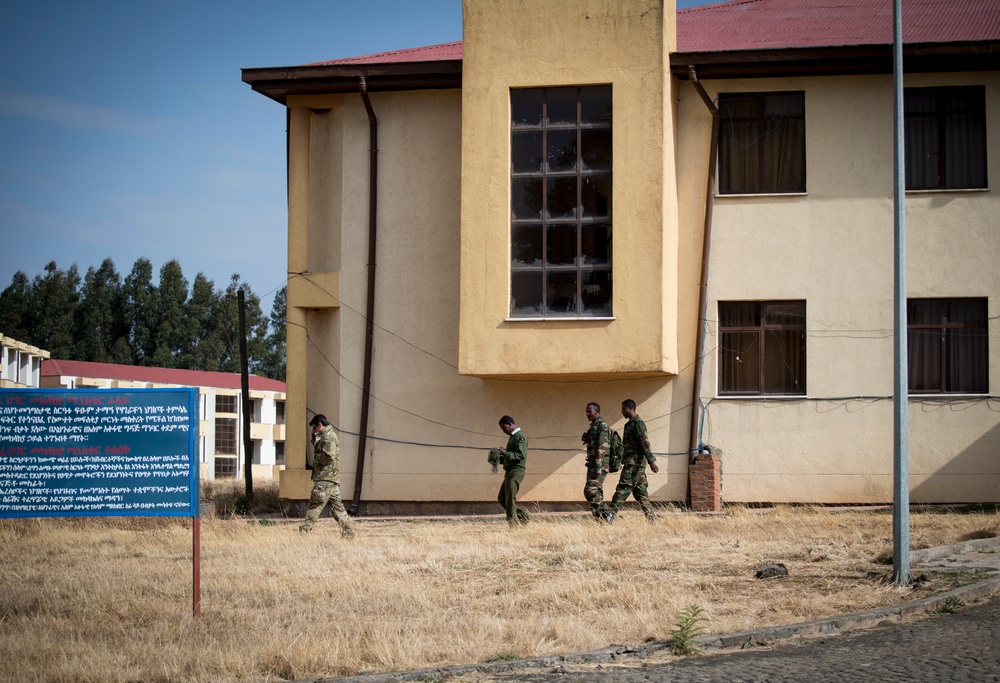
[[[568, 0], [572, 1], [572, 0]], [[678, 8], [711, 0], [678, 0]], [[270, 311], [286, 270], [285, 114], [240, 69], [462, 38], [461, 0], [7, 0], [0, 290], [49, 261], [177, 259]]]

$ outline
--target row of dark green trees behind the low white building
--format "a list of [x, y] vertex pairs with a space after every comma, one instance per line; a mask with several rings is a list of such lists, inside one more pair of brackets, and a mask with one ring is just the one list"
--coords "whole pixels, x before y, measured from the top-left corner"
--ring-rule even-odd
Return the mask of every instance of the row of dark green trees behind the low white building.
[[250, 372], [284, 380], [285, 287], [265, 317], [238, 273], [224, 290], [202, 273], [189, 286], [177, 260], [158, 282], [146, 258], [124, 276], [110, 258], [82, 278], [75, 263], [50, 261], [33, 279], [18, 271], [0, 293], [0, 333], [64, 360], [240, 372], [241, 289]]

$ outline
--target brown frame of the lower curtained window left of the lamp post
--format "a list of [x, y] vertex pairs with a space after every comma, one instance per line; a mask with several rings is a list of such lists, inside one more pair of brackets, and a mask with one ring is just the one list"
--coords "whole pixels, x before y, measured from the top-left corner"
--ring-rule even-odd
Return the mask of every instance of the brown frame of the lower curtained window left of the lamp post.
[[[757, 307], [755, 312], [756, 318], [759, 322], [748, 325], [748, 324], [732, 324], [727, 322], [727, 312], [724, 310], [725, 307], [733, 306], [734, 311], [736, 311], [736, 306], [746, 306], [752, 305]], [[778, 307], [788, 308], [789, 306], [800, 306], [800, 309], [794, 312], [794, 315], [801, 317], [800, 323], [788, 323], [788, 322], [770, 322], [768, 316], [768, 309]], [[787, 397], [803, 397], [806, 396], [807, 390], [807, 377], [808, 377], [808, 355], [807, 355], [807, 333], [808, 326], [806, 323], [806, 300], [805, 299], [772, 299], [772, 300], [729, 300], [729, 301], [719, 301], [717, 303], [716, 310], [718, 311], [718, 339], [719, 339], [719, 352], [717, 353], [718, 359], [718, 388], [717, 395], [720, 397], [755, 397], [755, 396], [787, 396]], [[772, 334], [769, 335], [768, 332]], [[798, 372], [791, 366], [796, 364], [795, 356], [789, 356], [788, 354], [796, 353], [795, 349], [788, 349], [779, 346], [781, 351], [781, 363], [785, 368], [792, 371], [793, 383], [797, 387], [794, 391], [776, 391], [769, 385], [769, 374], [768, 369], [772, 370], [773, 374], [773, 363], [774, 360], [769, 361], [768, 357], [768, 339], [777, 339], [778, 337], [773, 334], [775, 332], [779, 333], [791, 333], [795, 334], [799, 332], [801, 335], [799, 342], [799, 354], [798, 358]], [[731, 362], [742, 363], [740, 359], [739, 346], [734, 344], [733, 337], [737, 335], [747, 335], [756, 334], [756, 341], [754, 345], [757, 347], [757, 372], [754, 386], [741, 386], [736, 388], [727, 388], [729, 383], [727, 380], [728, 375], [736, 377], [739, 373], [735, 373], [734, 369], [729, 367]], [[773, 342], [772, 342], [773, 344]], [[779, 341], [780, 344], [780, 341]]]

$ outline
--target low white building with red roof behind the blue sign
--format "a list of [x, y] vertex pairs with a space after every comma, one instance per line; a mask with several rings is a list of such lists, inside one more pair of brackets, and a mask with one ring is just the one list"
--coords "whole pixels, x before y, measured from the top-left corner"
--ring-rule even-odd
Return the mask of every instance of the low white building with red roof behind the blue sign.
[[[201, 478], [244, 476], [243, 392], [237, 373], [47, 359], [39, 374], [35, 386], [51, 389], [196, 388]], [[285, 466], [285, 383], [250, 375], [248, 384], [253, 477], [276, 479]]]

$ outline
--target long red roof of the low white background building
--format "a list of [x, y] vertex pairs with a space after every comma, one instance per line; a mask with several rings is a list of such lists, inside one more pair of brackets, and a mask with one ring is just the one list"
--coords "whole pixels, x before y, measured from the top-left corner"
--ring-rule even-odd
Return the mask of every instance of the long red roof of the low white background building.
[[[173, 368], [148, 368], [140, 365], [118, 365], [116, 363], [90, 363], [81, 360], [42, 361], [43, 377], [92, 377], [122, 382], [152, 382], [154, 384], [174, 384], [185, 387], [216, 387], [219, 389], [240, 389], [242, 380], [238, 373], [207, 372], [203, 370], [176, 370]], [[276, 379], [250, 375], [250, 389], [253, 391], [285, 391], [285, 383]]]

